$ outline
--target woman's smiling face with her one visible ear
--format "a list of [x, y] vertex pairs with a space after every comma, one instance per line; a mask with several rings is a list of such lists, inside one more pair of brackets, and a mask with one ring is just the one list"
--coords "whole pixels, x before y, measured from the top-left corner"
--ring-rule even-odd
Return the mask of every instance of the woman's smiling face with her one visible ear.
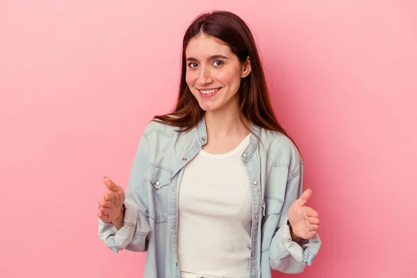
[[227, 44], [206, 34], [186, 48], [186, 82], [204, 111], [238, 106], [240, 79], [250, 74], [250, 62], [240, 63]]

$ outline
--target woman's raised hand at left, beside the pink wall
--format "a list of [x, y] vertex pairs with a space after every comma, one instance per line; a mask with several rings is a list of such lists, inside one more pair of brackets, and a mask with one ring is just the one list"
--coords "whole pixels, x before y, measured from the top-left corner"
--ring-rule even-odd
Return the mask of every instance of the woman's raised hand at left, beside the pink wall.
[[106, 192], [99, 202], [99, 213], [97, 216], [105, 223], [114, 222], [123, 216], [124, 190], [108, 177], [104, 177]]

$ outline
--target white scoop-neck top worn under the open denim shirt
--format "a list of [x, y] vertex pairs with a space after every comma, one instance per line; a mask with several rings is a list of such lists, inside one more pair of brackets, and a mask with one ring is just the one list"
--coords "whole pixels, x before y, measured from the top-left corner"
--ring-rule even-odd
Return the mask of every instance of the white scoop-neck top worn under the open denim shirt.
[[200, 151], [179, 188], [178, 255], [183, 274], [249, 277], [252, 202], [241, 156]]

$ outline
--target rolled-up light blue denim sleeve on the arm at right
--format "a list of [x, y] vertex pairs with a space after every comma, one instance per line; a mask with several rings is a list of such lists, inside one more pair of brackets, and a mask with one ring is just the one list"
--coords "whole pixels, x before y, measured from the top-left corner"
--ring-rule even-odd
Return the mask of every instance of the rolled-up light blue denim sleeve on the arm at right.
[[287, 213], [291, 205], [302, 195], [303, 165], [300, 161], [299, 170], [293, 171], [293, 177], [286, 186], [285, 202], [281, 211], [276, 234], [270, 245], [270, 265], [272, 270], [284, 273], [300, 273], [306, 265], [311, 265], [318, 254], [321, 240], [318, 234], [313, 238], [303, 239], [300, 244], [291, 238], [290, 227], [287, 224]]

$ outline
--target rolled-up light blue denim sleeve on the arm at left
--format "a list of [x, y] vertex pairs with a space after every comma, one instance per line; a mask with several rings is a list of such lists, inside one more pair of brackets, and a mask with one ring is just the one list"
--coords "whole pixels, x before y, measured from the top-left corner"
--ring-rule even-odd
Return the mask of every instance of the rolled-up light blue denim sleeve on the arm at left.
[[124, 249], [134, 252], [147, 251], [151, 228], [146, 214], [147, 182], [143, 174], [149, 166], [149, 155], [149, 142], [142, 136], [126, 187], [123, 227], [117, 231], [112, 223], [105, 223], [99, 219], [99, 238], [113, 252], [117, 253]]

